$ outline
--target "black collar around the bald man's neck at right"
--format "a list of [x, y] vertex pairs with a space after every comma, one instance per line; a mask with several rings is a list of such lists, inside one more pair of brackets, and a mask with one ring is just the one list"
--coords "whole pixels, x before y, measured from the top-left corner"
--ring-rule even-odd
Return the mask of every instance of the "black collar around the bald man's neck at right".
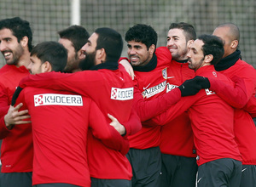
[[217, 65], [214, 65], [216, 71], [224, 71], [230, 68], [232, 65], [236, 64], [236, 61], [238, 59], [241, 59], [241, 51], [236, 50], [233, 54], [230, 54], [229, 56], [226, 56], [223, 59], [220, 59], [217, 63]]

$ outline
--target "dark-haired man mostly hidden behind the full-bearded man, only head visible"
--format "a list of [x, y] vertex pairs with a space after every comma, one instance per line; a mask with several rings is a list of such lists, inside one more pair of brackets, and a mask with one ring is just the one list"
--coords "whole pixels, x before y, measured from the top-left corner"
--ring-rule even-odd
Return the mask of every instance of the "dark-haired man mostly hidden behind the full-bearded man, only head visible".
[[82, 47], [90, 37], [88, 31], [83, 26], [69, 26], [58, 31], [58, 34], [59, 42], [67, 48], [67, 66], [64, 71], [68, 73], [81, 71], [79, 63], [85, 58]]

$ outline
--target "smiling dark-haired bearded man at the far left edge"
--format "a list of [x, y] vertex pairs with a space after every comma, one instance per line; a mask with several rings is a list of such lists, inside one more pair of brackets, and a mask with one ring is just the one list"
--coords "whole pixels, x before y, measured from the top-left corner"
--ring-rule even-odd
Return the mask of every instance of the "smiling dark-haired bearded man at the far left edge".
[[[0, 70], [0, 139], [2, 173], [0, 185], [9, 187], [32, 186], [32, 129], [31, 125], [13, 127], [5, 124], [11, 99], [21, 78], [29, 75], [32, 30], [29, 22], [19, 17], [0, 20], [0, 50], [6, 60]], [[18, 111], [21, 105], [14, 110]], [[26, 114], [22, 111], [19, 116]], [[26, 118], [28, 116], [22, 116]], [[18, 140], [19, 139], [19, 140]]]

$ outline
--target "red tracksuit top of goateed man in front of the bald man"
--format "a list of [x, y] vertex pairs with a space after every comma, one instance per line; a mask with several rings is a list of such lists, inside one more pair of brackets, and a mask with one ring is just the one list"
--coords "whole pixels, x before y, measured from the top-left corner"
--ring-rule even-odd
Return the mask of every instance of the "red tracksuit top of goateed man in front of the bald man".
[[[195, 73], [196, 76], [212, 77], [231, 85], [234, 84], [227, 77], [215, 71], [213, 65], [203, 66]], [[208, 89], [202, 89], [193, 96], [183, 97], [170, 110], [148, 123], [170, 122], [187, 110], [194, 133], [199, 166], [220, 158], [241, 161], [234, 135], [234, 109]]]

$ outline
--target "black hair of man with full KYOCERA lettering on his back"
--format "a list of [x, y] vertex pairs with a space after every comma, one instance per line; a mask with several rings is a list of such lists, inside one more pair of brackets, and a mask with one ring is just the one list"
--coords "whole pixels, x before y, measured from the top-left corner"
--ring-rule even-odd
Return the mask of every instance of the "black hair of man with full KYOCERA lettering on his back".
[[42, 63], [48, 61], [52, 71], [64, 71], [67, 65], [67, 49], [59, 42], [40, 42], [32, 48], [30, 56], [36, 55]]

